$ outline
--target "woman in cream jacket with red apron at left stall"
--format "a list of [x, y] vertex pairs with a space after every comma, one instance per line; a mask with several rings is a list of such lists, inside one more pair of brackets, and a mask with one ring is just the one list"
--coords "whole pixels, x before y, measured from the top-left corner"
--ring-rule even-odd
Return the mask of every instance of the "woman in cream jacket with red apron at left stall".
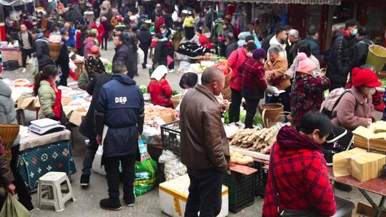
[[34, 96], [39, 96], [39, 118], [51, 118], [64, 124], [61, 107], [61, 90], [57, 88], [59, 70], [54, 65], [47, 65], [34, 78]]

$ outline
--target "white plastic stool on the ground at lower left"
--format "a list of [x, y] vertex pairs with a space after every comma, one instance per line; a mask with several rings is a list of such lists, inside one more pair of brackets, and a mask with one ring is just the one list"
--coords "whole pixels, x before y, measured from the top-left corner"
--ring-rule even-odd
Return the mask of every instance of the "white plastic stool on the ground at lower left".
[[[67, 190], [61, 189], [62, 183], [67, 185]], [[48, 187], [48, 191], [44, 187]], [[69, 199], [75, 201], [69, 178], [66, 176], [66, 173], [61, 172], [48, 172], [41, 176], [39, 178], [37, 196], [39, 209], [43, 205], [48, 205], [54, 206], [57, 212], [64, 211], [64, 203], [69, 201]]]

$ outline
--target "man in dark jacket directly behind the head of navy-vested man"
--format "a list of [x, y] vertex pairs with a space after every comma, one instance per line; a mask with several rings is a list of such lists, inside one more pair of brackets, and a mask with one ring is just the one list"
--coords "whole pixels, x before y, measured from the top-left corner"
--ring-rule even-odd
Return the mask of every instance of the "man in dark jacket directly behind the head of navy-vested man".
[[129, 55], [132, 54], [132, 52], [130, 52], [129, 47], [124, 44], [124, 38], [122, 34], [114, 37], [114, 45], [116, 46], [116, 48], [112, 63], [114, 64], [116, 61], [124, 62], [128, 71], [127, 75], [133, 79], [135, 74], [134, 57]]

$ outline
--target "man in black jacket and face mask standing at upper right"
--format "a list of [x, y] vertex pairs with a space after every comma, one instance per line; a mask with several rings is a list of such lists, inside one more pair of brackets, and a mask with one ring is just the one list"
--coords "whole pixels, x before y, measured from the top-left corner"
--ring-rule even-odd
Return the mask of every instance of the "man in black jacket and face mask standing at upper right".
[[350, 19], [346, 21], [345, 29], [335, 35], [326, 74], [331, 81], [330, 91], [346, 85], [347, 76], [355, 64], [352, 49], [358, 26], [358, 21]]

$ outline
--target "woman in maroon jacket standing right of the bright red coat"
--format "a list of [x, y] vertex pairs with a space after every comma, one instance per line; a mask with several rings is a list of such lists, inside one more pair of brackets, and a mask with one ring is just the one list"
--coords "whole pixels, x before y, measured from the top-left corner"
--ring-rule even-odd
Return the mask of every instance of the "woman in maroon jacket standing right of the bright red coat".
[[264, 60], [267, 59], [267, 51], [256, 49], [253, 56], [239, 68], [242, 76], [242, 97], [247, 103], [247, 116], [245, 117], [245, 128], [253, 128], [253, 118], [256, 114], [260, 99], [264, 98], [267, 89], [267, 81], [264, 78]]

